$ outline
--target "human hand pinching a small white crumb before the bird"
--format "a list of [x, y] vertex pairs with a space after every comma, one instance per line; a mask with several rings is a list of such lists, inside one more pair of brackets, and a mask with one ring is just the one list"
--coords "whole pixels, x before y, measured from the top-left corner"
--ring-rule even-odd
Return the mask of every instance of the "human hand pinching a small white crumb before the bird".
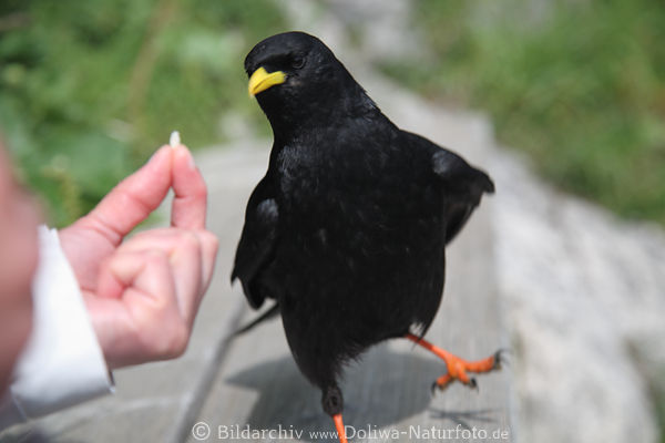
[[[123, 238], [173, 188], [171, 227]], [[213, 274], [207, 189], [183, 146], [163, 146], [60, 231], [110, 369], [181, 356]]]

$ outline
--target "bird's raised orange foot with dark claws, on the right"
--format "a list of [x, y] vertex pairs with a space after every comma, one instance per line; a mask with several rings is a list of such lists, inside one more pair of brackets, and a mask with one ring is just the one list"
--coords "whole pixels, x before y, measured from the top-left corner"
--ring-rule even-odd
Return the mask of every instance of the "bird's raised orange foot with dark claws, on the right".
[[478, 383], [475, 382], [475, 379], [469, 377], [468, 372], [482, 373], [501, 369], [501, 354], [503, 350], [498, 350], [497, 352], [494, 352], [493, 356], [488, 357], [487, 359], [478, 361], [467, 361], [448, 352], [444, 349], [433, 346], [427, 340], [413, 336], [412, 333], [408, 333], [406, 338], [411, 340], [416, 344], [423, 347], [428, 351], [434, 353], [446, 362], [448, 372], [439, 377], [437, 381], [432, 383], [432, 392], [434, 392], [436, 389], [446, 389], [454, 380], [459, 380], [469, 388], [478, 389]]

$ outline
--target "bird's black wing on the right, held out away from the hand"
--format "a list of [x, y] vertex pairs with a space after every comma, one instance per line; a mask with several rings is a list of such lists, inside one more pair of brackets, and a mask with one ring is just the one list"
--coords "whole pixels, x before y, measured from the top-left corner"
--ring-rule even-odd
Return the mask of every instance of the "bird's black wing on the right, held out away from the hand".
[[444, 186], [448, 243], [462, 229], [482, 195], [494, 192], [494, 183], [484, 172], [444, 148], [437, 150], [432, 155], [432, 169]]

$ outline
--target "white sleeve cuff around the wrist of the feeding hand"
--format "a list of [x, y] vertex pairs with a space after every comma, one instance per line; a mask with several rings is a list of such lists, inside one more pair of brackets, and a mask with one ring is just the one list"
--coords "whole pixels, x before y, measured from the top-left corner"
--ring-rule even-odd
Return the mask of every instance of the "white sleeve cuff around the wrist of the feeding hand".
[[113, 381], [55, 229], [39, 227], [33, 329], [0, 399], [0, 430], [113, 391]]

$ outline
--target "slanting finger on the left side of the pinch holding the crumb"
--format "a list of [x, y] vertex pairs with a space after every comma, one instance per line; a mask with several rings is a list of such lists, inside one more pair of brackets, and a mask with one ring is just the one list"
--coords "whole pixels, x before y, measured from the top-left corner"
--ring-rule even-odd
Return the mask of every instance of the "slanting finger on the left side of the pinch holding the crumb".
[[150, 161], [119, 183], [80, 223], [119, 245], [155, 210], [171, 187], [172, 147], [162, 146]]

